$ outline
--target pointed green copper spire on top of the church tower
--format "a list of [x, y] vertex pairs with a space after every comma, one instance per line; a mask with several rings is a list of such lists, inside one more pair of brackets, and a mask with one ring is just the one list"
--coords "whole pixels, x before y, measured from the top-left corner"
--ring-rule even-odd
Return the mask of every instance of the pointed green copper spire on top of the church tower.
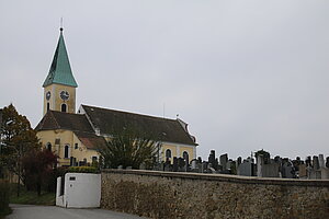
[[53, 58], [53, 62], [50, 66], [50, 70], [43, 87], [45, 88], [52, 83], [70, 85], [73, 88], [78, 87], [75, 77], [72, 74], [69, 58], [66, 51], [64, 37], [63, 37], [63, 28], [60, 28], [60, 35]]

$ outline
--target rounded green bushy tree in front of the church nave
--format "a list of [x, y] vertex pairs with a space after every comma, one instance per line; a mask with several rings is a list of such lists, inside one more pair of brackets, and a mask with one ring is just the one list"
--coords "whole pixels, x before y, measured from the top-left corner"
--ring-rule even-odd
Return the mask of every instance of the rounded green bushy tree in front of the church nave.
[[141, 163], [151, 166], [157, 154], [156, 141], [132, 128], [114, 134], [106, 145], [99, 146], [98, 150], [104, 168], [122, 165], [139, 169]]

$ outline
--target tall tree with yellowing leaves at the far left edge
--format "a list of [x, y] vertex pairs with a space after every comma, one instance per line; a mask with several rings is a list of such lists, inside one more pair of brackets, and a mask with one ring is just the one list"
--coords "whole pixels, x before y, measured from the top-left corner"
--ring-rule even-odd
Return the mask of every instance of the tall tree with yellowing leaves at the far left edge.
[[41, 148], [41, 145], [29, 119], [20, 115], [12, 104], [2, 110], [0, 142], [0, 166], [18, 175], [19, 196], [19, 185], [23, 180], [22, 158], [29, 151]]

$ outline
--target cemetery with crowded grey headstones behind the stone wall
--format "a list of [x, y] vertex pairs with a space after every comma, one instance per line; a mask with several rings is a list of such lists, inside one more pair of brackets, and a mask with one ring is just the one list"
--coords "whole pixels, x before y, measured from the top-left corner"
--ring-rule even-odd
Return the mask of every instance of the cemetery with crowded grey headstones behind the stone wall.
[[[143, 170], [144, 166], [140, 166]], [[254, 158], [241, 157], [236, 160], [229, 159], [228, 154], [216, 158], [215, 150], [212, 150], [208, 160], [202, 158], [189, 161], [189, 158], [173, 158], [172, 162], [167, 159], [156, 170], [166, 172], [193, 172], [211, 174], [232, 174], [259, 177], [281, 177], [281, 178], [303, 178], [303, 180], [328, 180], [329, 178], [329, 157], [324, 154], [308, 155], [305, 160], [281, 158], [273, 159], [270, 153], [260, 150], [254, 153]]]

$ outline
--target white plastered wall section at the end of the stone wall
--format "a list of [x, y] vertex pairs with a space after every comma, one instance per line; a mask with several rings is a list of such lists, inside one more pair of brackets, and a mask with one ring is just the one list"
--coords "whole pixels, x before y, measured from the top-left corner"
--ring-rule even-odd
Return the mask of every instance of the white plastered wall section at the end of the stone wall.
[[66, 208], [100, 207], [101, 174], [92, 174], [92, 173], [65, 174], [65, 188], [64, 188], [63, 204], [60, 201], [60, 198], [61, 196], [56, 197], [56, 205], [58, 199], [58, 204], [59, 204], [58, 206], [63, 206]]

